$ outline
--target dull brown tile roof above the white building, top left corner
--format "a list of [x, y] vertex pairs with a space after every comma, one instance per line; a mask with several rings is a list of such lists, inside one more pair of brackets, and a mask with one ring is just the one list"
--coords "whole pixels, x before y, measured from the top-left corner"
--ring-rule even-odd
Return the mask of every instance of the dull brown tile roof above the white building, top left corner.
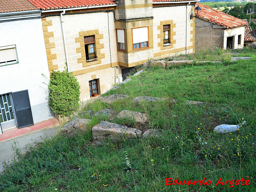
[[0, 13], [31, 10], [36, 10], [36, 7], [28, 0], [0, 0]]

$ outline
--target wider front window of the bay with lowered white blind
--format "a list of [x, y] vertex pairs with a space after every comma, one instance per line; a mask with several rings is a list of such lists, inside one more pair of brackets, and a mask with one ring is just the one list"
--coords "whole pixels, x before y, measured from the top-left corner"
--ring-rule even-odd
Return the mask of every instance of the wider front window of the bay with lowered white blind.
[[133, 50], [148, 47], [148, 27], [132, 29]]

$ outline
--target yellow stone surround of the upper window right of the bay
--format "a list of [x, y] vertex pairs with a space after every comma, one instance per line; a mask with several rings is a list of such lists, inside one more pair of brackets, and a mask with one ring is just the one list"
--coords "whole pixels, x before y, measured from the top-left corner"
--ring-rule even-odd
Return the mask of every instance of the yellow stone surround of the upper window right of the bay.
[[[171, 45], [164, 46], [164, 38], [163, 38], [163, 25], [170, 25], [170, 42]], [[173, 20], [165, 20], [160, 21], [160, 25], [157, 26], [157, 30], [160, 30], [160, 33], [157, 34], [157, 38], [160, 39], [160, 43], [157, 44], [161, 50], [172, 49], [173, 44], [176, 44], [176, 39], [173, 39], [173, 36], [176, 35], [176, 32], [173, 31], [173, 28], [176, 27], [176, 23], [173, 23]]]

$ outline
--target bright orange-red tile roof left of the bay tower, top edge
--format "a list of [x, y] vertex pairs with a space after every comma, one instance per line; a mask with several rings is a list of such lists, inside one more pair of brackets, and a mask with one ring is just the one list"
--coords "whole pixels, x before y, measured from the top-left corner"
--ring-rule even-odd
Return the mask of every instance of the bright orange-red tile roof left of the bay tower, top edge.
[[65, 9], [116, 4], [112, 0], [28, 0], [37, 9]]

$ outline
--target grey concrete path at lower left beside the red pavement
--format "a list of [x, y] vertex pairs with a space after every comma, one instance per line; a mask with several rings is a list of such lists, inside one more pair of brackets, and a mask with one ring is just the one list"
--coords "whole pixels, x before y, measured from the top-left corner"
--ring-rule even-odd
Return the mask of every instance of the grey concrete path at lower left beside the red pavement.
[[[14, 139], [5, 140], [5, 141], [0, 142], [0, 162], [1, 162], [1, 164], [4, 160], [6, 160], [6, 161], [12, 160], [13, 152], [11, 150], [11, 145], [14, 140], [19, 143], [21, 152], [24, 152], [25, 150], [23, 148], [25, 148], [27, 143], [33, 144], [33, 142], [34, 142], [33, 140], [40, 141], [41, 138], [44, 138], [45, 136], [51, 137], [55, 134], [55, 132], [56, 132], [55, 127], [43, 128], [40, 130], [36, 130], [34, 132], [30, 132], [30, 133], [18, 136]], [[42, 136], [42, 137], [40, 137], [40, 136]], [[1, 169], [2, 168], [0, 168], [0, 171], [1, 171]]]

